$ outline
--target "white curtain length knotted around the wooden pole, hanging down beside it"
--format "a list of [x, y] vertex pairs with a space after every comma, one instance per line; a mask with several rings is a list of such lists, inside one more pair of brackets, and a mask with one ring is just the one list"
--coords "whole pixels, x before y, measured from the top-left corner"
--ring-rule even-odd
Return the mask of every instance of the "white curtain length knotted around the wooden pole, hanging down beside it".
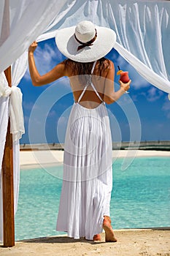
[[[18, 69], [18, 65], [22, 69]], [[12, 87], [9, 88], [4, 72], [0, 74], [0, 241], [3, 241], [3, 203], [2, 203], [2, 180], [1, 165], [4, 155], [4, 145], [7, 135], [7, 125], [10, 118], [10, 132], [13, 139], [13, 175], [14, 175], [14, 208], [17, 211], [18, 192], [20, 180], [20, 144], [19, 139], [24, 133], [22, 93], [17, 88], [20, 79], [27, 68], [27, 53], [12, 64]]]

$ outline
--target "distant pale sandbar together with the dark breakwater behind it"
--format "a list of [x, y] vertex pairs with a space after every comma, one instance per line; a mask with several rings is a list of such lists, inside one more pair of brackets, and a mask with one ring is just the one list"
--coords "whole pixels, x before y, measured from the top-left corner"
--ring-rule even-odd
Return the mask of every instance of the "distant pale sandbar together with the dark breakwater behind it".
[[[64, 144], [20, 145], [20, 165], [62, 165]], [[170, 157], [170, 140], [112, 143], [112, 158]]]

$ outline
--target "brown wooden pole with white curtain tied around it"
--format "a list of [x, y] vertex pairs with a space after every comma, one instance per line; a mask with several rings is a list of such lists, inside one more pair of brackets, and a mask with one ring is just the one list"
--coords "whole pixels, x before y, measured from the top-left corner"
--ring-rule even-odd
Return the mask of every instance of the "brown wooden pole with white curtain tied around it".
[[[11, 87], [11, 67], [4, 71], [8, 84]], [[10, 120], [7, 127], [7, 138], [2, 162], [3, 188], [3, 217], [4, 217], [4, 247], [15, 245], [15, 218], [14, 218], [14, 184], [13, 184], [13, 148], [10, 134]]]

